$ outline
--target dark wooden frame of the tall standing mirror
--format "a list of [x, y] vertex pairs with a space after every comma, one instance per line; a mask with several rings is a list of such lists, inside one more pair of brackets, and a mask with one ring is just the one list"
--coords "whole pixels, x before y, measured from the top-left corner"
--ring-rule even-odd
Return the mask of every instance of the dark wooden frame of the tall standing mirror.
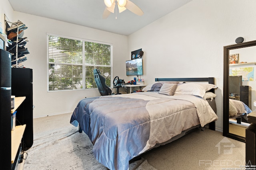
[[234, 45], [224, 46], [224, 68], [223, 68], [223, 136], [245, 142], [245, 138], [229, 133], [229, 51], [232, 49], [240, 49], [244, 47], [255, 46], [256, 41], [249, 41]]

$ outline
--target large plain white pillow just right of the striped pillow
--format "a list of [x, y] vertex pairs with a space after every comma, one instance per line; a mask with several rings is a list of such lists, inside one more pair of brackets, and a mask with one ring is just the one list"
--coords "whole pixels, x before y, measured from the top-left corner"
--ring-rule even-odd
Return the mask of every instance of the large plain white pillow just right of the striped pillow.
[[194, 96], [204, 97], [204, 87], [196, 83], [178, 84], [174, 94], [189, 94]]

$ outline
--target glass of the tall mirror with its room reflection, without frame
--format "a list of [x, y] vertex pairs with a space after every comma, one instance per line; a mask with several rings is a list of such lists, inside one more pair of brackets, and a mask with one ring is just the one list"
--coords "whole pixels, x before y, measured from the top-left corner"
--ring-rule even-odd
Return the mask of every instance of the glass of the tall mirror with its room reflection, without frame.
[[256, 100], [256, 58], [252, 57], [255, 52], [256, 46], [229, 51], [229, 133], [241, 137], [245, 137], [245, 130], [250, 125], [247, 121], [248, 113], [256, 109], [253, 105]]

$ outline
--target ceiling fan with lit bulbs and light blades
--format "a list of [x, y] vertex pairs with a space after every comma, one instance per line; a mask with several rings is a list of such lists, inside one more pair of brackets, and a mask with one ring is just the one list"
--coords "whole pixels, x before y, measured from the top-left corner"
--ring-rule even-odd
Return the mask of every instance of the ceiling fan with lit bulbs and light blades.
[[114, 13], [116, 6], [118, 6], [119, 13], [128, 9], [138, 16], [142, 16], [144, 14], [143, 11], [130, 0], [104, 0], [104, 3], [106, 8], [103, 12], [103, 19], [108, 18], [111, 12]]

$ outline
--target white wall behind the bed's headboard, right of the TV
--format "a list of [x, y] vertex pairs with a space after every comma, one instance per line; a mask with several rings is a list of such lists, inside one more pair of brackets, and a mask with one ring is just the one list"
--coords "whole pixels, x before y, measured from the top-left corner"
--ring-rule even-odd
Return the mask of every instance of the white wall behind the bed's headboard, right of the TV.
[[223, 47], [237, 37], [256, 39], [255, 6], [255, 0], [193, 0], [130, 35], [128, 50], [144, 51], [146, 83], [159, 77], [215, 77], [216, 128], [222, 130]]

